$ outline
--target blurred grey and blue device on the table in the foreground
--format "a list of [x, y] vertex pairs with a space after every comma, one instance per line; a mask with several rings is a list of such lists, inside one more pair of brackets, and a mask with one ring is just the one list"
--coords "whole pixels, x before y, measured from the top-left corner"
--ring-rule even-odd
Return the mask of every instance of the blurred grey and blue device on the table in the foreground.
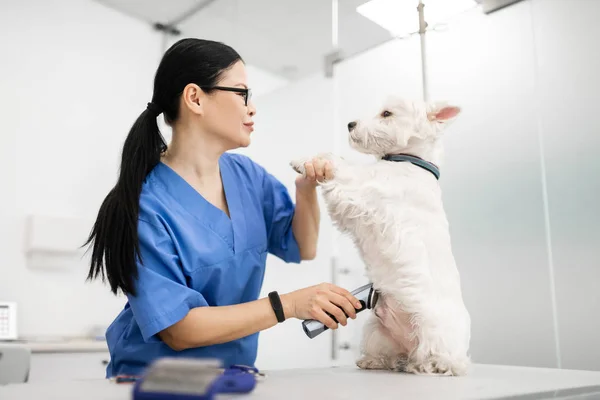
[[213, 400], [215, 395], [249, 393], [256, 368], [222, 368], [218, 360], [165, 357], [152, 363], [133, 387], [133, 400]]

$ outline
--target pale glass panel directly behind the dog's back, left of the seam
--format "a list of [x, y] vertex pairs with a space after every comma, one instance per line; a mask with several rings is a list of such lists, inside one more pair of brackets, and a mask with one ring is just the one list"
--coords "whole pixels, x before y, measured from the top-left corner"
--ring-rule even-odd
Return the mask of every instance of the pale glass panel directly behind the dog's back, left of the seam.
[[473, 359], [555, 367], [534, 50], [526, 2], [427, 40], [431, 98], [463, 108], [441, 182]]

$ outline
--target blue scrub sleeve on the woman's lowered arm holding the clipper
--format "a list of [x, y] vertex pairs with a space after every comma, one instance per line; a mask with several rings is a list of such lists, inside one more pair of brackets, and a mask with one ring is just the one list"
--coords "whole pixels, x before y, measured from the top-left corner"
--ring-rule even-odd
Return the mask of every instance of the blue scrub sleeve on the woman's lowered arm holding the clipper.
[[208, 305], [186, 285], [179, 256], [167, 231], [140, 220], [138, 236], [142, 263], [137, 263], [136, 296], [129, 305], [145, 341], [158, 341], [160, 331], [180, 321], [195, 307]]

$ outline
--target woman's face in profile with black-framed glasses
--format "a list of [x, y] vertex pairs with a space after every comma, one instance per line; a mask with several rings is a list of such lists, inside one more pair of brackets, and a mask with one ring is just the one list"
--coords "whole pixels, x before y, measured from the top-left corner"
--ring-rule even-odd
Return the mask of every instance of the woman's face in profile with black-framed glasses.
[[[238, 61], [225, 71], [216, 86], [248, 89], [244, 63]], [[250, 94], [248, 93], [248, 97]], [[203, 131], [214, 135], [226, 148], [246, 147], [254, 130], [252, 117], [256, 114], [254, 104], [246, 94], [215, 89], [203, 96], [201, 124]]]

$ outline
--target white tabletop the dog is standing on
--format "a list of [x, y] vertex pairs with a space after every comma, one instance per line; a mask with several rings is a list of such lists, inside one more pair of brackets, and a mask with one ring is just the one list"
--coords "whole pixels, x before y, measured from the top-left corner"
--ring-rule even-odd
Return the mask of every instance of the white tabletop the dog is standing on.
[[[600, 372], [477, 364], [465, 377], [416, 376], [355, 367], [266, 371], [267, 377], [246, 395], [218, 399], [338, 400], [338, 399], [499, 399], [516, 395], [596, 386]], [[0, 387], [2, 400], [126, 400], [131, 384], [104, 379], [17, 384]], [[588, 389], [589, 390], [589, 389]], [[598, 394], [597, 394], [598, 395]], [[567, 398], [557, 393], [514, 397], [528, 400]], [[570, 397], [568, 397], [570, 398]], [[578, 399], [598, 397], [578, 397]]]

